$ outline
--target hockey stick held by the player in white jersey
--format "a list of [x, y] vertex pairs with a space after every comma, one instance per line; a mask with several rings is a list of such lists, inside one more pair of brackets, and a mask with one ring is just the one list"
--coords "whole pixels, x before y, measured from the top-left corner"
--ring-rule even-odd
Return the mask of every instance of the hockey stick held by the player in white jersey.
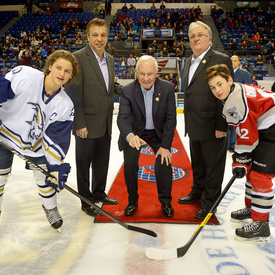
[[[28, 159], [26, 156], [24, 156], [21, 153], [17, 152], [15, 149], [10, 148], [2, 140], [0, 140], [0, 144], [3, 145], [5, 148], [7, 148], [12, 153], [14, 153], [15, 155], [17, 155], [18, 157], [20, 157], [21, 159], [23, 159], [24, 161], [26, 161], [31, 167], [34, 167], [36, 170], [43, 173], [46, 177], [53, 177], [48, 171], [46, 171], [45, 169], [43, 169], [42, 167], [40, 167], [39, 165], [37, 165], [36, 163], [31, 161], [30, 159]], [[137, 226], [132, 226], [132, 225], [126, 224], [124, 222], [121, 222], [120, 220], [116, 219], [114, 216], [112, 216], [111, 214], [109, 214], [108, 212], [103, 210], [102, 208], [98, 207], [96, 204], [92, 203], [90, 200], [84, 198], [82, 195], [80, 195], [78, 192], [76, 192], [74, 189], [72, 189], [68, 185], [65, 184], [64, 188], [67, 189], [72, 194], [76, 195], [82, 201], [86, 202], [87, 204], [89, 204], [90, 206], [95, 208], [100, 213], [107, 216], [109, 219], [111, 219], [115, 223], [118, 223], [119, 225], [123, 226], [124, 228], [126, 228], [128, 230], [136, 231], [136, 232], [139, 232], [139, 233], [147, 234], [147, 235], [152, 236], [152, 237], [157, 237], [157, 234], [154, 231], [151, 231], [151, 230], [148, 230], [148, 229], [145, 229], [145, 228], [141, 228], [141, 227], [137, 227]]]

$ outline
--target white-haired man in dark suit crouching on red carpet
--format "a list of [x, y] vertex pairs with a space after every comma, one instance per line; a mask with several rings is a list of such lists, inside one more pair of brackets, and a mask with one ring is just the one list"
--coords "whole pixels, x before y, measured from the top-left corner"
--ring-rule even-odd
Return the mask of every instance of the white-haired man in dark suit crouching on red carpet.
[[156, 155], [155, 175], [163, 214], [172, 217], [172, 167], [170, 153], [176, 128], [174, 86], [157, 78], [158, 64], [142, 56], [136, 65], [137, 79], [123, 87], [118, 127], [119, 149], [124, 151], [124, 177], [128, 191], [125, 215], [134, 215], [138, 206], [138, 159], [142, 144]]

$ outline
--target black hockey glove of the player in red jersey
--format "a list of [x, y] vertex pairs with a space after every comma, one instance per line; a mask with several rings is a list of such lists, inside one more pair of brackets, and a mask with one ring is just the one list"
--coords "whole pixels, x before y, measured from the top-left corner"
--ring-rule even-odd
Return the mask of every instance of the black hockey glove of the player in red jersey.
[[252, 154], [237, 154], [232, 155], [233, 164], [232, 164], [232, 173], [236, 175], [238, 179], [243, 178], [250, 169], [252, 162]]

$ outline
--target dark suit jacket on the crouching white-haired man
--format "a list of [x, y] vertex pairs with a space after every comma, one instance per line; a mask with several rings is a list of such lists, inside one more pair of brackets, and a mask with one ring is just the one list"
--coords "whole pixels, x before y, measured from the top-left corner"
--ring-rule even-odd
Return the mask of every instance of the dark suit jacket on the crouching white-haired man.
[[[170, 82], [156, 79], [152, 112], [155, 131], [161, 140], [160, 146], [169, 149], [176, 128], [174, 86]], [[117, 124], [120, 130], [118, 144], [121, 151], [129, 146], [126, 141], [128, 134], [133, 133], [140, 137], [145, 130], [145, 104], [138, 80], [131, 82], [122, 89]]]

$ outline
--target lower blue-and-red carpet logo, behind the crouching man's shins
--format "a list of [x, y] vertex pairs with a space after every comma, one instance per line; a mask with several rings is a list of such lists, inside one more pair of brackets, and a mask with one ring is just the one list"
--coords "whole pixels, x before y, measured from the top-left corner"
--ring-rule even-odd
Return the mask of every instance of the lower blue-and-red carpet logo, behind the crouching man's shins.
[[[185, 170], [181, 167], [172, 166], [172, 179], [173, 180], [181, 180], [189, 176], [188, 170]], [[138, 178], [141, 180], [147, 181], [156, 181], [155, 177], [155, 166], [154, 165], [146, 165], [139, 167], [138, 170]]]

